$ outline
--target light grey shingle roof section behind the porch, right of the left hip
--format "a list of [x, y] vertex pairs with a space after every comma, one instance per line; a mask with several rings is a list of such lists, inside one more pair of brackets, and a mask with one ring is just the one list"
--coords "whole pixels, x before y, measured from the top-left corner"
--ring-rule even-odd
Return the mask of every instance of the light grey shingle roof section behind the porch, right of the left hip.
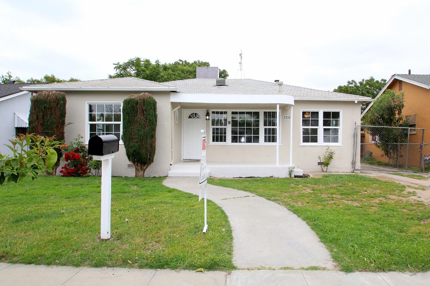
[[[226, 79], [225, 86], [215, 86], [215, 79], [184, 79], [172, 82], [163, 82], [165, 85], [177, 86], [184, 93], [208, 93], [208, 94], [279, 94], [279, 86], [276, 82], [265, 82], [255, 79]], [[304, 88], [294, 85], [282, 85], [281, 94], [289, 94], [294, 97], [309, 98], [339, 98], [368, 100], [353, 94], [344, 94], [334, 91], [322, 91], [312, 88]]]

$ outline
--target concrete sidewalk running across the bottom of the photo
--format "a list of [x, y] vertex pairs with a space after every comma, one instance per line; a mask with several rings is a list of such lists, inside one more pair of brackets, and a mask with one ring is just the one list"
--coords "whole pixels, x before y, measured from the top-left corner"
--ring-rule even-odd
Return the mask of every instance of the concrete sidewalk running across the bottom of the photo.
[[74, 268], [0, 263], [1, 286], [428, 286], [430, 272], [354, 272], [309, 270], [194, 271], [129, 268]]

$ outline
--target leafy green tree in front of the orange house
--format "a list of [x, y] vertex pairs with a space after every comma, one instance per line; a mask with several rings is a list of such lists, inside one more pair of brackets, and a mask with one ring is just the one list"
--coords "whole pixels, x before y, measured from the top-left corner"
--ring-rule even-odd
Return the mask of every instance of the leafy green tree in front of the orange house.
[[[363, 125], [408, 127], [408, 122], [402, 115], [403, 107], [405, 107], [404, 93], [396, 94], [395, 91], [388, 89], [373, 102], [372, 108], [363, 116]], [[401, 143], [407, 142], [408, 129], [383, 127], [367, 129], [365, 131], [378, 138], [376, 146], [384, 155], [393, 158], [394, 163], [398, 165], [402, 151]]]

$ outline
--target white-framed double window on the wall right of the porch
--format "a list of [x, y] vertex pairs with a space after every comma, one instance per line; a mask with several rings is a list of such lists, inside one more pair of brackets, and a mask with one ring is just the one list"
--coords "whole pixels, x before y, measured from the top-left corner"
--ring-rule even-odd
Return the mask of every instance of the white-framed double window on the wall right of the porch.
[[301, 110], [302, 145], [341, 145], [340, 110]]

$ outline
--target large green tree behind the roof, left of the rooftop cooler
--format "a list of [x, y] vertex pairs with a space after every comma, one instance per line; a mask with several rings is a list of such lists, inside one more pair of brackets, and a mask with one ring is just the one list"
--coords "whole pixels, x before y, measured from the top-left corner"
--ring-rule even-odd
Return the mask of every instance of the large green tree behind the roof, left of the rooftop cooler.
[[[183, 61], [161, 64], [155, 61], [154, 64], [147, 58], [131, 58], [123, 63], [114, 64], [115, 73], [109, 78], [134, 76], [139, 79], [147, 79], [153, 82], [169, 82], [180, 79], [195, 79], [196, 67], [210, 67], [207, 61]], [[227, 70], [220, 70], [219, 77], [227, 78]]]

